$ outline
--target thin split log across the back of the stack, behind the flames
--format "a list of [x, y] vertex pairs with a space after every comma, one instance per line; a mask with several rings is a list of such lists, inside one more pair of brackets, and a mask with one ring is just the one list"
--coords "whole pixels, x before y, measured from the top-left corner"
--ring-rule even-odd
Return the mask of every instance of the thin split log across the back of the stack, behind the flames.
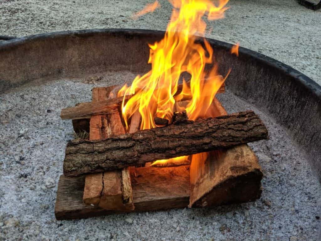
[[[223, 93], [225, 91], [224, 85], [222, 86], [217, 93]], [[114, 86], [111, 86], [111, 87], [114, 87]], [[182, 88], [183, 88], [183, 85], [178, 85], [178, 91], [174, 96], [178, 95], [181, 92]], [[126, 96], [126, 99], [128, 100], [130, 97], [131, 97], [130, 95]], [[122, 97], [116, 97], [114, 99], [80, 103], [77, 106], [62, 109], [60, 113], [60, 118], [62, 120], [86, 119], [86, 118], [90, 118], [92, 115], [112, 114], [117, 112], [118, 109], [121, 107], [123, 98], [124, 97], [122, 96]]]

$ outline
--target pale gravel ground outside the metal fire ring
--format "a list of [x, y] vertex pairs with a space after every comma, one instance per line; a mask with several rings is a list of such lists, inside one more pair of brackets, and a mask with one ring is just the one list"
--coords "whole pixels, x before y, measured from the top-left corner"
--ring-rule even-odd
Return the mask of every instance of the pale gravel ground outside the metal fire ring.
[[[0, 0], [0, 35], [26, 36], [92, 28], [165, 30], [171, 5], [133, 20], [153, 0]], [[321, 85], [321, 10], [296, 0], [230, 0], [226, 18], [208, 24], [207, 37], [236, 43], [284, 62]]]

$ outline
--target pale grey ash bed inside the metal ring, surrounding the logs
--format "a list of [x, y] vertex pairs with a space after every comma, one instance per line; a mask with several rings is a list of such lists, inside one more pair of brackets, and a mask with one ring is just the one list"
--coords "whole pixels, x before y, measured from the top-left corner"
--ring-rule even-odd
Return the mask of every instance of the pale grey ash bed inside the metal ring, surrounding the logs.
[[[0, 240], [313, 240], [320, 225], [320, 187], [286, 132], [233, 94], [228, 112], [252, 109], [270, 139], [250, 146], [265, 174], [261, 199], [214, 209], [174, 209], [71, 221], [54, 216], [64, 150], [73, 138], [62, 108], [91, 100], [91, 89], [133, 79], [107, 73], [94, 84], [60, 80], [0, 95]], [[85, 82], [85, 83], [84, 83]]]

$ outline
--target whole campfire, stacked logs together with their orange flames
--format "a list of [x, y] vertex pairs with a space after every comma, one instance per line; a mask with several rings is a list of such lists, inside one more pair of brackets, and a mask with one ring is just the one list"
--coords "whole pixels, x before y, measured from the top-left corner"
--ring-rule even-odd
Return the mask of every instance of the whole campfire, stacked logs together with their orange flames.
[[[267, 138], [267, 129], [253, 111], [227, 114], [215, 95], [230, 72], [221, 76], [211, 45], [195, 37], [205, 35], [204, 17], [223, 17], [227, 2], [172, 0], [164, 38], [149, 45], [151, 70], [131, 85], [94, 88], [92, 102], [62, 110], [89, 139], [67, 144], [57, 219], [260, 197], [263, 174], [246, 143]], [[238, 45], [231, 54], [238, 58]], [[71, 197], [75, 183], [82, 185]]]

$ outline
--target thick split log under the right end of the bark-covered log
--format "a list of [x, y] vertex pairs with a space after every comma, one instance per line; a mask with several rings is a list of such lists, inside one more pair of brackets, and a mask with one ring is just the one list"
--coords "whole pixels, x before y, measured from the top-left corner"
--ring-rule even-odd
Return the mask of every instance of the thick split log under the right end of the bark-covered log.
[[[216, 98], [213, 107], [211, 114], [227, 114]], [[258, 160], [246, 144], [212, 151], [207, 158], [192, 159], [189, 207], [254, 201], [261, 196], [262, 177]]]

